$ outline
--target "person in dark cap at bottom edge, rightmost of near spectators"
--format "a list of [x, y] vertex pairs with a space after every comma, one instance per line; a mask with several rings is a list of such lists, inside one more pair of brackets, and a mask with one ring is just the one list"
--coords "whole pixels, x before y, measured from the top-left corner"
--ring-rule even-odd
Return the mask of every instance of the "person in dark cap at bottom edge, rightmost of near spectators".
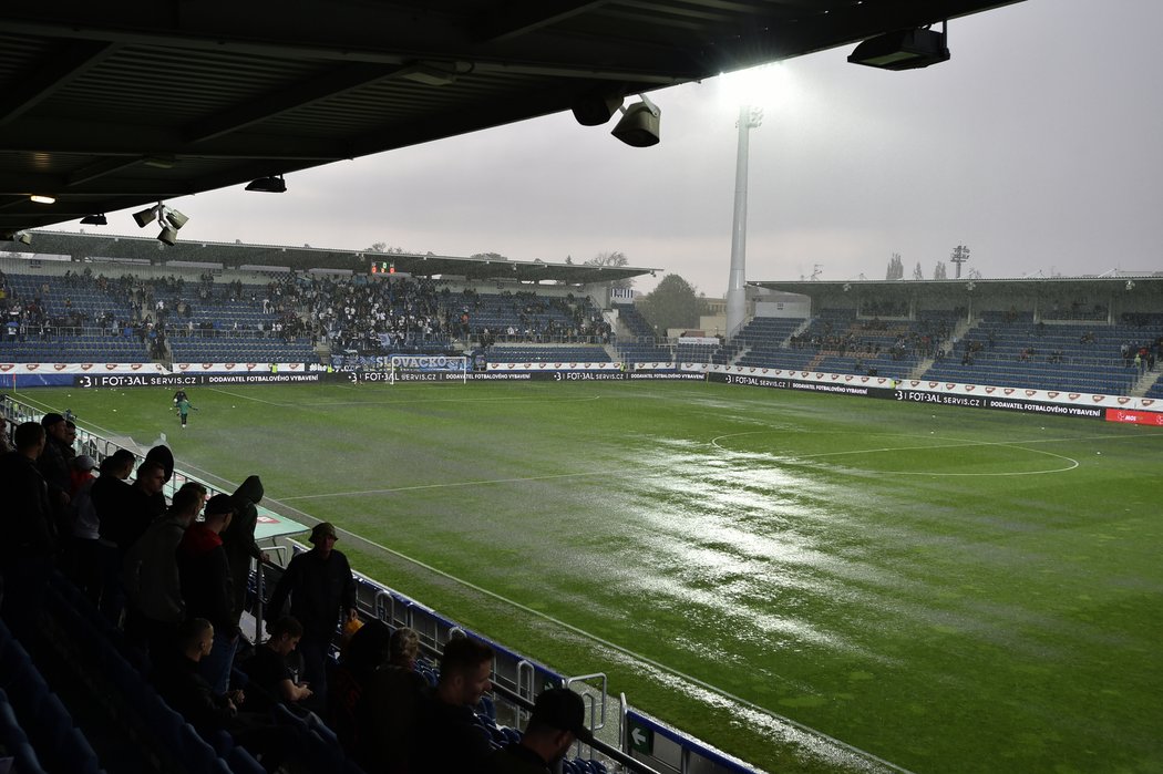
[[585, 726], [585, 702], [569, 688], [550, 688], [537, 696], [520, 741], [488, 757], [491, 774], [549, 774], [575, 741], [593, 743]]

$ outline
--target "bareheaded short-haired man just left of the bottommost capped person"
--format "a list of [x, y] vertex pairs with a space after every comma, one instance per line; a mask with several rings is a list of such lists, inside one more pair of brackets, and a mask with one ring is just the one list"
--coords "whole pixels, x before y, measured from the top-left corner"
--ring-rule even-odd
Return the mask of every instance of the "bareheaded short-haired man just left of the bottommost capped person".
[[414, 771], [461, 774], [477, 771], [491, 750], [475, 707], [492, 687], [493, 650], [469, 637], [444, 645], [440, 681], [426, 702], [414, 736]]

